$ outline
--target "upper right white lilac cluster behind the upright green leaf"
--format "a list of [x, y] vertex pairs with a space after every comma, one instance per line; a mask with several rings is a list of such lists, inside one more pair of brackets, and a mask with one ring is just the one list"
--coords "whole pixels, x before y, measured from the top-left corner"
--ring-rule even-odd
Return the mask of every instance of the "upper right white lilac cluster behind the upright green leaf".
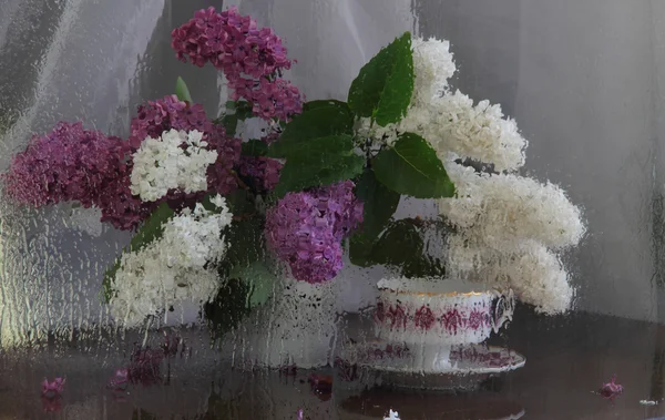
[[491, 162], [497, 171], [518, 170], [524, 165], [526, 140], [515, 121], [503, 115], [501, 105], [487, 100], [474, 105], [468, 95], [450, 91], [448, 79], [456, 66], [449, 48], [448, 41], [415, 39], [416, 82], [407, 115], [385, 127], [372, 124], [371, 119], [360, 119], [358, 135], [390, 146], [401, 133], [416, 133], [443, 161], [452, 155]]

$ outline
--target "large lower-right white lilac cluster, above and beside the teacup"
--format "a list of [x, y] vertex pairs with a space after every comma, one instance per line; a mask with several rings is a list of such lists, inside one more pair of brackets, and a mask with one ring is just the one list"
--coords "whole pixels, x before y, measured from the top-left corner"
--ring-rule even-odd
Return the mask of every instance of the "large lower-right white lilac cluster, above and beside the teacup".
[[512, 174], [479, 174], [446, 164], [457, 197], [439, 201], [457, 228], [448, 237], [448, 267], [459, 278], [512, 288], [546, 314], [565, 311], [573, 290], [556, 250], [585, 234], [580, 209], [556, 185]]

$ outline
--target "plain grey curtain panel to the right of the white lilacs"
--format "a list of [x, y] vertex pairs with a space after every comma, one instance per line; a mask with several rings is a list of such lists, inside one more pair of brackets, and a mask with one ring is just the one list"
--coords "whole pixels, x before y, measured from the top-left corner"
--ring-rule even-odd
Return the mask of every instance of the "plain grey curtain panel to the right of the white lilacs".
[[652, 4], [522, 2], [515, 114], [533, 139], [529, 168], [585, 207], [582, 308], [656, 319], [653, 201], [662, 47]]

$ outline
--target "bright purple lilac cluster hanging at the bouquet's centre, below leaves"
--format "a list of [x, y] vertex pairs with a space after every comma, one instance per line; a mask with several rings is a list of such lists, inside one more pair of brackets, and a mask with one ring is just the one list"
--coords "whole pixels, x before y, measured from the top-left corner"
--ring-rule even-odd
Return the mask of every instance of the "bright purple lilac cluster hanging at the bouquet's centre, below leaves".
[[341, 269], [341, 239], [362, 223], [362, 203], [354, 187], [345, 181], [288, 193], [267, 212], [266, 244], [288, 263], [296, 279], [321, 283]]

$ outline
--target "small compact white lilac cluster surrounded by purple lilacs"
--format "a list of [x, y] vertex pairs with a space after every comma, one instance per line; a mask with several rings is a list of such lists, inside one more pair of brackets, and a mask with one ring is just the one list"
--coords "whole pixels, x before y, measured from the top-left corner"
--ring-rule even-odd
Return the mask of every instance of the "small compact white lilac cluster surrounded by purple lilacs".
[[196, 193], [207, 189], [206, 171], [217, 160], [200, 131], [170, 130], [160, 139], [147, 137], [133, 155], [132, 194], [155, 202], [170, 189]]

